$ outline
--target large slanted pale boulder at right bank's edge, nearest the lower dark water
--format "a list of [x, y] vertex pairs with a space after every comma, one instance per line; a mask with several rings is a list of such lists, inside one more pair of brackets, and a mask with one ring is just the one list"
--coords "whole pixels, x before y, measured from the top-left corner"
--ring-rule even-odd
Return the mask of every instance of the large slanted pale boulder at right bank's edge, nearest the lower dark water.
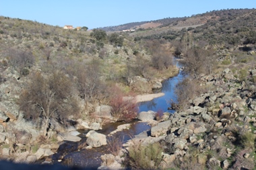
[[170, 120], [167, 120], [165, 122], [160, 122], [158, 125], [151, 128], [151, 136], [162, 136], [166, 135], [166, 132], [170, 130], [171, 128], [171, 122]]

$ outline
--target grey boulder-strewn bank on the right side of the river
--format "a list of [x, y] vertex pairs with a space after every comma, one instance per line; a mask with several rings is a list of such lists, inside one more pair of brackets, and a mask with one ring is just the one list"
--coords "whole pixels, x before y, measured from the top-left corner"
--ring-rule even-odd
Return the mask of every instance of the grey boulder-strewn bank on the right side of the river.
[[[256, 70], [247, 71], [248, 79], [255, 75]], [[162, 161], [152, 164], [153, 169], [253, 169], [255, 83], [246, 84], [225, 69], [220, 75], [201, 77], [201, 85], [214, 90], [195, 97], [189, 108], [175, 112], [168, 120], [156, 122], [156, 113], [148, 113], [145, 121], [152, 124], [150, 133], [123, 144], [116, 157], [102, 156], [102, 168], [120, 168], [129, 161], [133, 148], [158, 142], [163, 146]]]

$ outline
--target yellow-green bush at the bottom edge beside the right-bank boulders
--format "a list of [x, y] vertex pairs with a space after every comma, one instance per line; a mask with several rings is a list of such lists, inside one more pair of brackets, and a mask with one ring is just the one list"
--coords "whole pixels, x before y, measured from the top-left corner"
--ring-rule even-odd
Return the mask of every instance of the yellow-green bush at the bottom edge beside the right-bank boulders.
[[130, 147], [125, 163], [132, 169], [158, 169], [162, 161], [162, 146], [159, 143]]

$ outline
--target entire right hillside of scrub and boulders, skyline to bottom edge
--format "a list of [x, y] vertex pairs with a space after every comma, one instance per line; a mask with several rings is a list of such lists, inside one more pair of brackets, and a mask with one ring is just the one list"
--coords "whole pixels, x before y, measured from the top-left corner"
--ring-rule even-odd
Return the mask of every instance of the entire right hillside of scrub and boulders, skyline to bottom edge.
[[[157, 40], [167, 40], [172, 54], [181, 58], [179, 62], [187, 77], [175, 89], [178, 101], [171, 108], [177, 112], [168, 120], [170, 128], [158, 134], [166, 135], [164, 139], [154, 144], [148, 144], [150, 139], [139, 142], [135, 139], [137, 143], [131, 144], [125, 153], [125, 166], [131, 169], [255, 168], [255, 13], [255, 9], [210, 11], [183, 19], [167, 19], [170, 22], [160, 28], [130, 34], [135, 42], [147, 42], [146, 47]], [[158, 52], [162, 48], [155, 45], [149, 49]], [[161, 59], [154, 52], [153, 67], [168, 68], [167, 58]], [[163, 61], [161, 65], [155, 58]], [[159, 128], [161, 123], [165, 122], [160, 122]], [[191, 130], [192, 124], [205, 129], [197, 133]], [[156, 133], [153, 128], [151, 136]]]

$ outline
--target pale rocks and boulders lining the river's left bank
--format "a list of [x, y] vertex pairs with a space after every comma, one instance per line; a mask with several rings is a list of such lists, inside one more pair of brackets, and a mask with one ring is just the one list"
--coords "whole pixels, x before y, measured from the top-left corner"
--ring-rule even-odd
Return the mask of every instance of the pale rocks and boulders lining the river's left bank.
[[[100, 130], [103, 124], [116, 121], [111, 115], [112, 108], [109, 105], [96, 106], [91, 120], [80, 118], [73, 120], [75, 124], [71, 122], [66, 127], [51, 120], [51, 128], [45, 138], [39, 126], [24, 118], [24, 113], [19, 111], [19, 105], [16, 102], [19, 100], [26, 79], [20, 77], [20, 74], [12, 67], [5, 69], [1, 76], [1, 159], [15, 163], [34, 163], [42, 158], [47, 158], [46, 163], [50, 163], [50, 156], [57, 152], [64, 140], [77, 142], [77, 149], [99, 147], [106, 144], [106, 136], [98, 134], [95, 130]], [[160, 80], [158, 82], [156, 84], [160, 88]], [[137, 95], [136, 101], [149, 101], [162, 95], [164, 93]], [[81, 101], [80, 107], [84, 107], [84, 101]], [[87, 129], [92, 130], [87, 134], [88, 140], [81, 142], [82, 138], [79, 137], [77, 130]]]

